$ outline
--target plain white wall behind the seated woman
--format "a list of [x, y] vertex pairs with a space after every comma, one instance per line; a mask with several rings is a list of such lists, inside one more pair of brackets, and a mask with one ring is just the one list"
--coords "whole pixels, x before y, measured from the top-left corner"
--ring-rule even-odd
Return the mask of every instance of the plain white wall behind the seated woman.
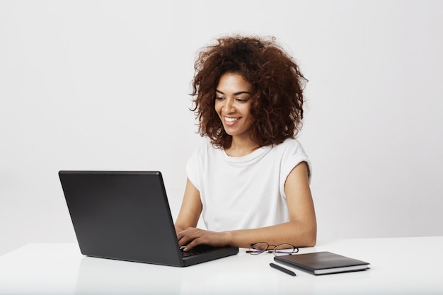
[[195, 52], [227, 33], [309, 79], [320, 243], [443, 235], [442, 1], [0, 0], [0, 254], [76, 241], [61, 169], [161, 170], [176, 216]]

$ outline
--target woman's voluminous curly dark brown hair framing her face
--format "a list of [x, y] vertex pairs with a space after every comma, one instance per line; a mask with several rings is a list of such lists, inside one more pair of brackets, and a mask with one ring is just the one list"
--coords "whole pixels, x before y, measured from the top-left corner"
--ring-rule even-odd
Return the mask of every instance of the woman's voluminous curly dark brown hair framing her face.
[[227, 149], [232, 137], [214, 109], [216, 88], [223, 74], [241, 74], [251, 83], [251, 138], [260, 146], [294, 138], [303, 120], [303, 89], [307, 79], [275, 37], [227, 36], [200, 50], [192, 80], [192, 102], [200, 135]]

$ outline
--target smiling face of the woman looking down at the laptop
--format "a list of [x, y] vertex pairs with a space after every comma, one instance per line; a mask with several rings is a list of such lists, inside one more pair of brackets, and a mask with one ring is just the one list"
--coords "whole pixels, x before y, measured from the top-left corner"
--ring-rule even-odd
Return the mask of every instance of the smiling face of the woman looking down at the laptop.
[[215, 110], [222, 120], [224, 130], [232, 137], [249, 139], [253, 91], [253, 85], [241, 74], [226, 73], [220, 77], [216, 89]]

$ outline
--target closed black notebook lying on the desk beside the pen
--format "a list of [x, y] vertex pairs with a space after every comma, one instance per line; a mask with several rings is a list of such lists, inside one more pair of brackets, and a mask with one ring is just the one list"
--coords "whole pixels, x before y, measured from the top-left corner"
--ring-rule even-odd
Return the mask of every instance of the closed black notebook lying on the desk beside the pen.
[[275, 256], [274, 260], [311, 272], [311, 274], [333, 274], [369, 269], [368, 262], [330, 252]]

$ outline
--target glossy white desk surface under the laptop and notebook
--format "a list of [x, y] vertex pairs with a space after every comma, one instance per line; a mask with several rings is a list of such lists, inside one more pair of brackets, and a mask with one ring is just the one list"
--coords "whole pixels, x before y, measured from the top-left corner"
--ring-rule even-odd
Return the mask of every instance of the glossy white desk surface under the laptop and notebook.
[[[443, 237], [350, 239], [321, 250], [371, 263], [364, 272], [291, 277], [274, 255], [238, 255], [191, 267], [88, 258], [76, 244], [29, 244], [0, 257], [0, 294], [443, 294]], [[289, 268], [289, 267], [288, 267]]]

